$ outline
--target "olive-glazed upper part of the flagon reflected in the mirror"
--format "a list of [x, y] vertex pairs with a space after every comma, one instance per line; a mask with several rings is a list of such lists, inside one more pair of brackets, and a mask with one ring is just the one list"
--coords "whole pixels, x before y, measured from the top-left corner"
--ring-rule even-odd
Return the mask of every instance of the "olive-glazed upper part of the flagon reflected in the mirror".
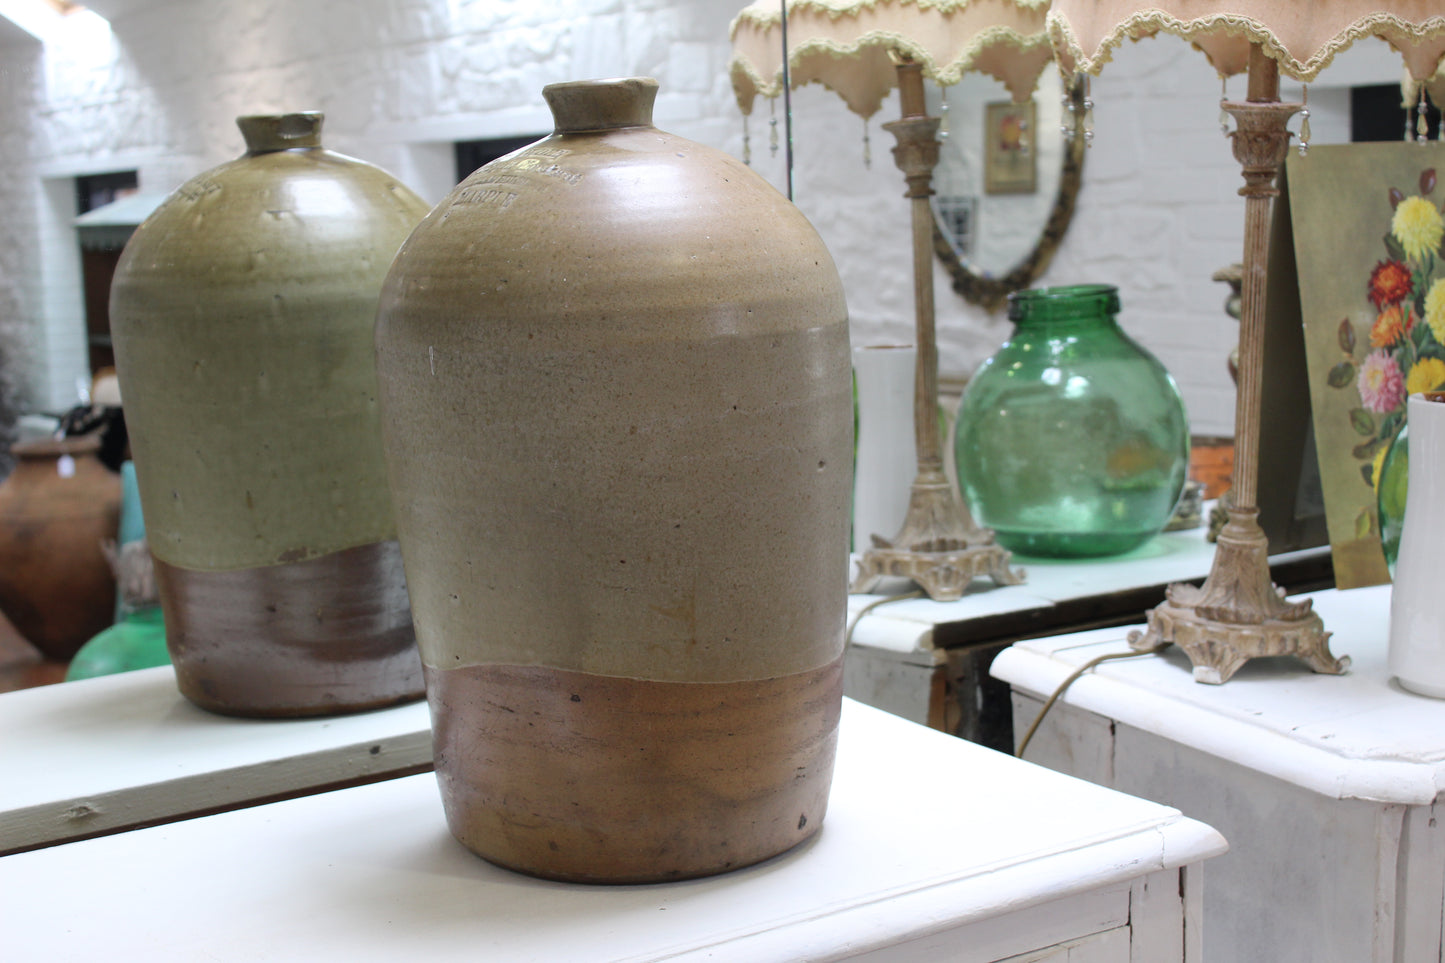
[[137, 228], [111, 294], [150, 548], [189, 570], [394, 538], [371, 331], [426, 204], [318, 114], [240, 123], [250, 152]]

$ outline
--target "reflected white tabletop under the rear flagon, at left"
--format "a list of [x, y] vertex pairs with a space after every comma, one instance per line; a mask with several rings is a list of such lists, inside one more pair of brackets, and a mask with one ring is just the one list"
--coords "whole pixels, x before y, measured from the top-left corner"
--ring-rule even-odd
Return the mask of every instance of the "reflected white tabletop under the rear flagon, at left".
[[420, 701], [331, 719], [215, 716], [181, 696], [169, 665], [4, 693], [0, 855], [419, 772], [431, 739]]

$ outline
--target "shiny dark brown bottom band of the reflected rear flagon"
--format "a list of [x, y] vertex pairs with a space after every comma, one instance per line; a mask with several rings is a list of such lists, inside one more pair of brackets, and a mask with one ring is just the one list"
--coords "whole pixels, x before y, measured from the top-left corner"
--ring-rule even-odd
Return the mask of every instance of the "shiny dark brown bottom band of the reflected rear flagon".
[[397, 544], [236, 571], [156, 560], [181, 694], [227, 716], [331, 716], [419, 698]]

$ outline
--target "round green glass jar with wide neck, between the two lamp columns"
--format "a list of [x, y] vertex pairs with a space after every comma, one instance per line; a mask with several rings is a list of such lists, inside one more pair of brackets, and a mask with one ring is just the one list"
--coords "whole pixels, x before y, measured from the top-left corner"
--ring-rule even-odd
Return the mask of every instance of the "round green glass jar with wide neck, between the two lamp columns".
[[1014, 552], [1126, 552], [1179, 500], [1183, 399], [1117, 314], [1111, 285], [1017, 292], [1013, 337], [968, 382], [954, 435], [958, 480], [978, 522]]

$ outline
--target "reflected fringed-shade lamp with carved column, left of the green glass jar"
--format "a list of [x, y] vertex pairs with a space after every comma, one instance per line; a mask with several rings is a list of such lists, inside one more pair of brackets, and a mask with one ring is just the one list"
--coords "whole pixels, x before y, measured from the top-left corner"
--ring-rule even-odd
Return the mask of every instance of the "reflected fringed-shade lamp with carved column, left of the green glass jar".
[[[918, 369], [913, 434], [918, 474], [902, 531], [870, 534], [853, 591], [868, 591], [884, 575], [918, 583], [932, 599], [962, 597], [987, 575], [1016, 584], [1010, 552], [980, 528], [944, 471], [938, 431], [938, 341], [933, 331], [933, 227], [929, 197], [938, 165], [938, 119], [923, 104], [923, 78], [941, 87], [967, 71], [993, 75], [1017, 101], [1027, 100], [1052, 59], [1045, 35], [1048, 0], [788, 0], [789, 82], [821, 82], [867, 119], [896, 85], [902, 117], [884, 124], [896, 139], [912, 208], [913, 308]], [[738, 106], [782, 93], [782, 4], [759, 0], [733, 22], [730, 74]]]

